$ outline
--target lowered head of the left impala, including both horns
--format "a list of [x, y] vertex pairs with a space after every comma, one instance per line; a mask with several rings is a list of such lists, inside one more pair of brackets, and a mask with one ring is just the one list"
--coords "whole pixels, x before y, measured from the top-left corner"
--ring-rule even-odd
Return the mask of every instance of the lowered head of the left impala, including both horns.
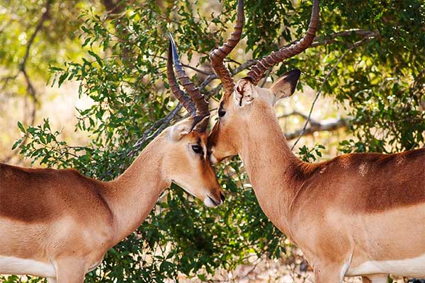
[[[177, 78], [190, 97], [179, 88], [173, 70], [173, 62]], [[216, 207], [224, 202], [225, 195], [217, 182], [217, 177], [207, 156], [208, 134], [206, 130], [210, 118], [208, 102], [186, 76], [171, 35], [167, 77], [171, 92], [188, 110], [191, 117], [164, 131], [167, 141], [169, 141], [167, 154], [164, 157], [164, 168], [171, 181], [180, 185], [191, 195], [198, 197], [206, 206]]]

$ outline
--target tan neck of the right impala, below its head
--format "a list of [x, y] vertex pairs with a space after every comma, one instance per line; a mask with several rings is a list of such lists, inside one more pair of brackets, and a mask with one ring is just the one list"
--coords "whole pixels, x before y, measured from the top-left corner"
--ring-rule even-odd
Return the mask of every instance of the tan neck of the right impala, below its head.
[[292, 178], [293, 172], [294, 168], [306, 166], [306, 163], [290, 150], [273, 110], [258, 114], [259, 117], [250, 117], [249, 129], [244, 132], [239, 146], [239, 156], [261, 209], [288, 235], [290, 204], [300, 187]]

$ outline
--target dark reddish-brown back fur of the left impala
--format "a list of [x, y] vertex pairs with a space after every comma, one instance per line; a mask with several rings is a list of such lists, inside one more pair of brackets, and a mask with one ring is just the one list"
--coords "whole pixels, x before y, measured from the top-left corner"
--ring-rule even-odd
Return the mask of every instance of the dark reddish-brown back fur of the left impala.
[[[20, 168], [0, 163], [0, 215], [30, 224], [60, 218], [64, 212], [58, 212], [56, 207], [64, 207], [66, 213], [71, 205], [79, 207], [89, 203], [107, 208], [101, 188], [104, 190], [103, 183], [75, 170]], [[81, 216], [78, 211], [74, 213]]]

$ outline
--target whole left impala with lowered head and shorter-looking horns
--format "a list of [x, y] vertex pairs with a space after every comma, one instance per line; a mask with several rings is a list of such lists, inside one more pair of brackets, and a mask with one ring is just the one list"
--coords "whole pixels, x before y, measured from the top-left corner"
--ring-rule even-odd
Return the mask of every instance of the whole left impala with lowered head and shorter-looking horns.
[[176, 69], [191, 98], [180, 90], [169, 60], [170, 86], [191, 117], [165, 129], [115, 180], [0, 163], [0, 274], [84, 282], [106, 251], [140, 226], [171, 182], [208, 207], [222, 204], [206, 150], [208, 103], [180, 64]]

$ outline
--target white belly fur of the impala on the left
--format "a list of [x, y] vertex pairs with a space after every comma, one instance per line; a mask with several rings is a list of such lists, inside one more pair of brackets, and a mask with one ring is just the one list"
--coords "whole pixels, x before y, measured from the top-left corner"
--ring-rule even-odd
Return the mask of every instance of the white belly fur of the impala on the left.
[[55, 267], [51, 263], [2, 255], [0, 255], [0, 274], [56, 277]]

